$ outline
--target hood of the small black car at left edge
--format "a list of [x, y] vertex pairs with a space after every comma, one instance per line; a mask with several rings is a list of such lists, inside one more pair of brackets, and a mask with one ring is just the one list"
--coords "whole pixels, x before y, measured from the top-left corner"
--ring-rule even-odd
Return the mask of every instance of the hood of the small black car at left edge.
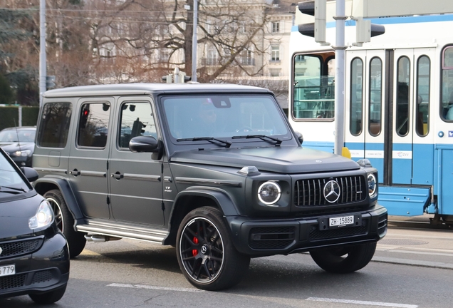
[[0, 202], [0, 240], [31, 235], [33, 230], [28, 227], [28, 220], [36, 215], [42, 200], [43, 197], [36, 194], [33, 197]]

